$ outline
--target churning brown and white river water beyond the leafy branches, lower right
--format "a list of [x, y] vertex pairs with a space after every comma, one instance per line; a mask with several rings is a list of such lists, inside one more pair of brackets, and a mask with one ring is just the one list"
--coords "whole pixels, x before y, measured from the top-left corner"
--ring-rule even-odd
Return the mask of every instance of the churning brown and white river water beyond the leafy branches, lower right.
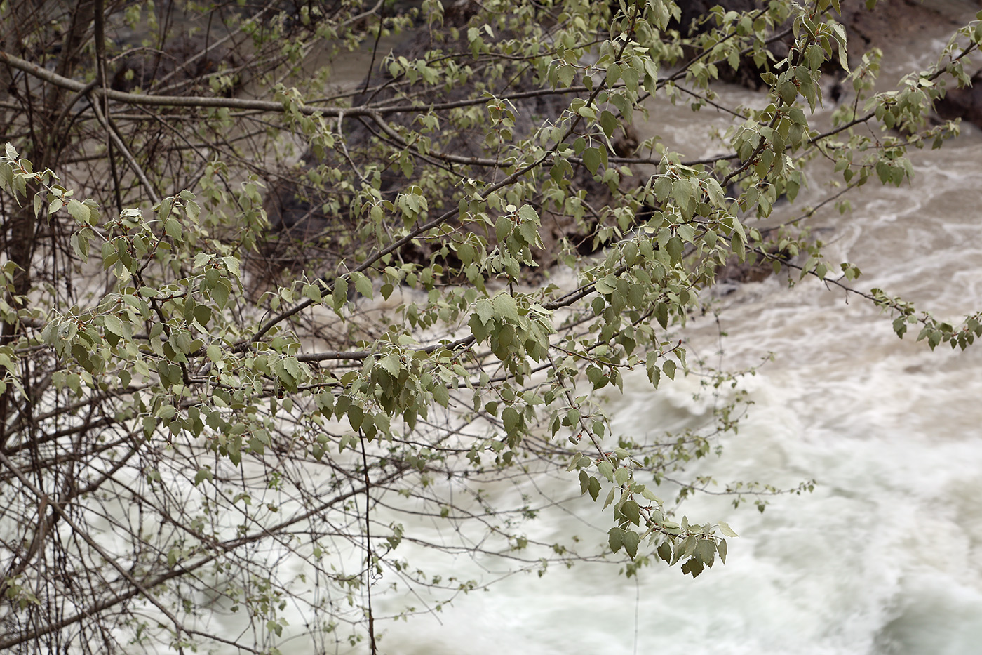
[[[673, 123], [681, 142], [699, 127], [688, 120]], [[912, 184], [867, 185], [850, 213], [812, 224], [830, 259], [862, 269], [857, 288], [957, 321], [982, 308], [982, 134], [966, 126], [945, 149], [911, 156]], [[979, 346], [931, 352], [914, 341], [916, 327], [901, 341], [868, 302], [815, 281], [742, 285], [721, 300], [720, 322], [726, 366], [774, 361], [740, 382], [753, 405], [723, 457], [694, 470], [722, 483], [814, 478], [813, 494], [773, 498], [763, 513], [727, 497], [687, 501], [687, 515], [728, 520], [741, 535], [725, 566], [695, 580], [660, 564], [631, 579], [602, 565], [518, 575], [386, 627], [384, 650], [982, 652]], [[712, 321], [696, 321], [688, 337], [704, 355], [719, 348]], [[696, 425], [706, 402], [696, 390], [691, 378], [657, 393], [628, 381], [610, 407], [616, 430], [656, 435], [685, 415]], [[559, 532], [584, 529], [574, 514], [548, 520]]]

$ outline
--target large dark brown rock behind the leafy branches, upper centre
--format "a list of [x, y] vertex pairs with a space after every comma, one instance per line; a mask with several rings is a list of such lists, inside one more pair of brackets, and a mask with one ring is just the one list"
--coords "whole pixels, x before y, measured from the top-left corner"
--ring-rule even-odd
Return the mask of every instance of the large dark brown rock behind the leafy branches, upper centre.
[[[474, 7], [469, 0], [460, 0], [448, 7], [447, 23], [465, 22], [469, 13]], [[446, 30], [446, 24], [445, 24]], [[440, 47], [445, 51], [463, 50], [467, 47], [465, 34], [458, 36], [455, 40], [450, 37], [450, 31], [444, 34], [444, 40], [434, 42], [431, 30], [415, 30], [410, 32], [406, 41], [395, 48], [397, 56], [402, 55], [409, 59], [418, 56], [434, 47]], [[498, 38], [507, 37], [507, 34], [497, 34]], [[388, 70], [374, 71], [370, 80], [370, 87], [380, 87], [369, 89], [366, 93], [358, 93], [353, 97], [353, 104], [359, 105], [365, 102], [393, 102], [399, 100], [396, 93], [397, 87], [391, 84], [393, 79]], [[487, 85], [496, 94], [508, 94], [516, 91], [538, 89], [538, 82], [534, 76], [528, 72], [521, 71], [519, 74], [514, 72], [505, 76], [504, 80], [486, 82], [481, 78], [474, 78], [466, 84], [452, 85], [448, 87], [424, 87], [417, 84], [415, 89], [402, 89], [408, 93], [407, 99], [403, 102], [411, 102], [412, 92], [417, 94], [424, 92], [428, 102], [454, 102], [473, 96], [480, 96], [481, 88]], [[364, 86], [364, 83], [362, 83]], [[421, 91], [420, 91], [421, 89]], [[555, 120], [562, 111], [569, 105], [570, 96], [562, 94], [530, 94], [526, 97], [515, 98], [510, 106], [515, 107], [516, 124], [511, 129], [514, 140], [518, 140], [529, 135], [544, 120]], [[483, 110], [483, 109], [482, 109]], [[407, 115], [394, 114], [387, 116], [389, 124], [395, 128], [400, 126], [417, 127], [410, 121], [415, 119], [414, 113]], [[434, 150], [453, 154], [457, 157], [482, 158], [494, 156], [493, 149], [485, 146], [485, 124], [483, 122], [465, 121], [462, 125], [455, 126], [451, 120], [449, 112], [443, 112], [441, 116], [441, 130], [433, 133], [432, 139]], [[325, 188], [315, 190], [312, 187], [304, 187], [300, 184], [307, 173], [320, 164], [337, 166], [341, 169], [351, 165], [352, 161], [370, 161], [373, 156], [377, 156], [372, 151], [372, 142], [378, 128], [368, 121], [360, 119], [345, 119], [344, 133], [347, 138], [348, 156], [339, 156], [338, 151], [328, 150], [324, 152], [323, 158], [319, 158], [313, 152], [305, 152], [302, 162], [283, 171], [279, 171], [275, 179], [265, 180], [269, 192], [264, 200], [265, 208], [271, 232], [266, 237], [263, 245], [264, 251], [275, 259], [284, 268], [290, 267], [290, 259], [297, 257], [306, 263], [312, 259], [323, 261], [323, 268], [332, 269], [339, 262], [339, 258], [350, 255], [351, 249], [358, 246], [352, 235], [355, 233], [359, 224], [349, 212], [350, 197], [342, 196], [336, 190]], [[571, 142], [573, 139], [571, 139]], [[629, 156], [640, 143], [636, 132], [629, 124], [621, 126], [611, 139], [611, 146], [620, 156]], [[431, 154], [431, 158], [438, 155]], [[416, 165], [420, 165], [416, 162]], [[466, 164], [460, 161], [448, 162], [448, 167], [465, 173]], [[351, 169], [354, 176], [356, 171]], [[397, 194], [405, 191], [409, 184], [414, 183], [414, 179], [407, 177], [402, 169], [395, 162], [380, 171], [379, 191], [384, 200], [394, 202]], [[586, 167], [577, 164], [573, 167], [573, 179], [570, 195], [581, 193], [585, 196], [585, 204], [595, 207], [603, 207], [609, 203], [612, 190], [607, 184], [594, 179]], [[622, 183], [627, 183], [622, 181]], [[630, 183], [636, 183], [630, 182]], [[456, 190], [448, 189], [446, 196], [431, 195], [428, 197], [430, 216], [438, 215], [448, 208], [457, 206], [458, 199], [455, 196]], [[336, 211], [324, 211], [323, 208], [332, 207], [331, 200], [334, 200], [333, 207]], [[340, 200], [339, 200], [340, 199]], [[601, 218], [588, 211], [582, 218], [573, 218], [566, 215], [562, 209], [552, 207], [536, 207], [541, 216], [540, 237], [543, 241], [543, 248], [532, 251], [531, 256], [539, 265], [539, 268], [528, 268], [523, 271], [527, 275], [526, 281], [536, 278], [541, 271], [555, 265], [557, 256], [560, 252], [559, 243], [564, 238], [570, 239], [573, 247], [580, 254], [590, 254], [603, 247], [595, 239], [595, 232], [599, 226]], [[401, 220], [398, 216], [390, 219]], [[456, 218], [452, 218], [447, 223], [459, 233], [474, 232], [487, 239], [489, 248], [496, 245], [494, 229], [488, 229], [483, 223], [461, 224]], [[434, 251], [433, 244], [419, 241], [406, 244], [399, 251], [399, 257], [405, 262], [428, 263], [431, 260], [444, 264], [446, 268], [459, 268], [460, 263], [456, 260], [453, 252], [438, 253]]]

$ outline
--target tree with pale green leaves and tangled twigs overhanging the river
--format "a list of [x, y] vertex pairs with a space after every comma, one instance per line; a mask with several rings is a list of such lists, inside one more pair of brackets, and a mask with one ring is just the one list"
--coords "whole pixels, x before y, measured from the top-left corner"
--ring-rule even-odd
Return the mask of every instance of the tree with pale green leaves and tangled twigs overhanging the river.
[[[554, 497], [523, 483], [549, 477], [596, 503], [628, 575], [725, 561], [725, 522], [654, 492], [735, 429], [732, 374], [700, 369], [713, 424], [658, 443], [612, 434], [600, 389], [685, 375], [680, 330], [735, 258], [863, 296], [932, 348], [982, 334], [852, 289], [859, 269], [796, 229], [956, 132], [927, 117], [968, 83], [978, 22], [877, 92], [836, 0], [692, 31], [671, 0], [26, 6], [0, 5], [20, 28], [0, 48], [0, 648], [374, 651], [383, 575], [437, 604], [477, 584], [406, 541], [540, 573], [597, 557], [524, 534]], [[338, 87], [355, 55], [370, 75]], [[721, 154], [629, 144], [649, 98], [722, 106], [714, 81], [751, 62], [766, 102], [726, 107]], [[826, 71], [851, 95], [819, 131]], [[796, 208], [822, 162], [824, 200]]]

